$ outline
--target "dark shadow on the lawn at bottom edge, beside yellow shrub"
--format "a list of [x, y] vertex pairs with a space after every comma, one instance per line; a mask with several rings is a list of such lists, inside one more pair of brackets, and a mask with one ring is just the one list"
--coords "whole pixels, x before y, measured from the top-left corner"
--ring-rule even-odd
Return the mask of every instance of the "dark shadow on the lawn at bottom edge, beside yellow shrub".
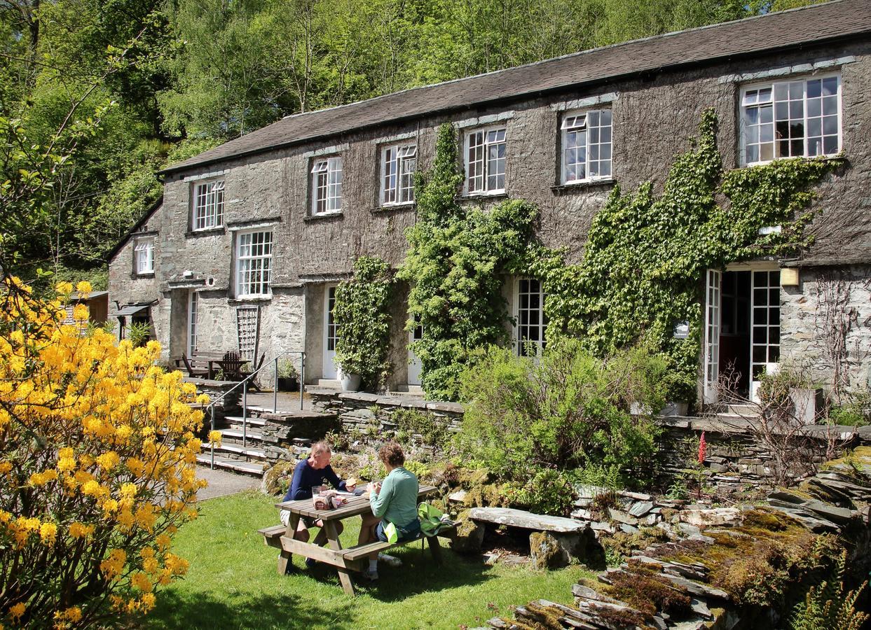
[[350, 611], [321, 608], [299, 595], [290, 594], [281, 597], [249, 595], [228, 604], [209, 593], [181, 597], [170, 591], [160, 594], [160, 609], [160, 627], [172, 630], [324, 627], [325, 623], [329, 627], [351, 626]]

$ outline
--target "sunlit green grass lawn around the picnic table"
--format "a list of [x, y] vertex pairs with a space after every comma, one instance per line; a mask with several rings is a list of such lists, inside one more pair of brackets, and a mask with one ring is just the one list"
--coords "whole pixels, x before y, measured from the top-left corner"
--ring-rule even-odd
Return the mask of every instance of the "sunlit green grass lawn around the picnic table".
[[[593, 573], [580, 566], [537, 573], [525, 566], [485, 566], [479, 556], [445, 549], [434, 566], [420, 543], [391, 553], [402, 566], [381, 563], [381, 580], [355, 580], [357, 597], [342, 593], [327, 566], [275, 571], [278, 550], [264, 546], [259, 527], [278, 523], [274, 500], [246, 492], [200, 504], [199, 519], [177, 534], [173, 552], [190, 560], [184, 580], [158, 594], [147, 617], [154, 628], [457, 628], [510, 616], [510, 606], [546, 598], [571, 602], [571, 584]], [[343, 521], [342, 545], [354, 545], [360, 519]], [[442, 544], [442, 546], [445, 546]]]

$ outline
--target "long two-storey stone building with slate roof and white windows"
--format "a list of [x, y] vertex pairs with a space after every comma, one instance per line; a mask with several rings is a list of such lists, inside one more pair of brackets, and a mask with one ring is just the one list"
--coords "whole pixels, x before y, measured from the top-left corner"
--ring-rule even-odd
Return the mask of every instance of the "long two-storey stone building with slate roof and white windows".
[[[362, 254], [402, 262], [410, 173], [431, 164], [439, 124], [458, 132], [464, 203], [529, 200], [544, 245], [577, 261], [614, 184], [661, 190], [712, 107], [726, 169], [841, 152], [847, 167], [816, 189], [802, 258], [699, 278], [700, 391], [712, 398], [726, 362], [752, 388], [789, 355], [822, 381], [867, 385], [869, 34], [871, 2], [841, 0], [285, 117], [164, 171], [162, 204], [113, 253], [111, 299], [147, 315], [168, 355], [304, 351], [307, 383], [332, 381], [334, 286]], [[537, 281], [506, 278], [505, 291], [515, 338], [541, 339]], [[402, 296], [394, 315], [388, 385], [401, 391], [420, 382]]]

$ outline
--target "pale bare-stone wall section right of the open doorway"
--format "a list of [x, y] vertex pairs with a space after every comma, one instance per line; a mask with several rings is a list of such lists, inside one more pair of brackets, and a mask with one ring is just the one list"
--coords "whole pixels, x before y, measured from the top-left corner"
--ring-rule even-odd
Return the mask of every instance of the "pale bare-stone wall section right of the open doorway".
[[847, 391], [871, 385], [871, 265], [800, 272], [780, 291], [781, 361]]

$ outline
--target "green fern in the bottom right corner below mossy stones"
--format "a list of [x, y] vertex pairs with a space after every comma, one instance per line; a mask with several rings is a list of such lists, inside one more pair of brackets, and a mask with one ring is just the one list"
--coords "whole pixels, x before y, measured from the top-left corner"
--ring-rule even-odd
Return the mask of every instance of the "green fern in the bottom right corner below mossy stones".
[[793, 609], [789, 627], [792, 630], [861, 630], [868, 613], [855, 609], [856, 600], [868, 586], [868, 580], [854, 591], [844, 593], [844, 570], [847, 552], [841, 553], [832, 567], [828, 580], [811, 586], [807, 596]]

